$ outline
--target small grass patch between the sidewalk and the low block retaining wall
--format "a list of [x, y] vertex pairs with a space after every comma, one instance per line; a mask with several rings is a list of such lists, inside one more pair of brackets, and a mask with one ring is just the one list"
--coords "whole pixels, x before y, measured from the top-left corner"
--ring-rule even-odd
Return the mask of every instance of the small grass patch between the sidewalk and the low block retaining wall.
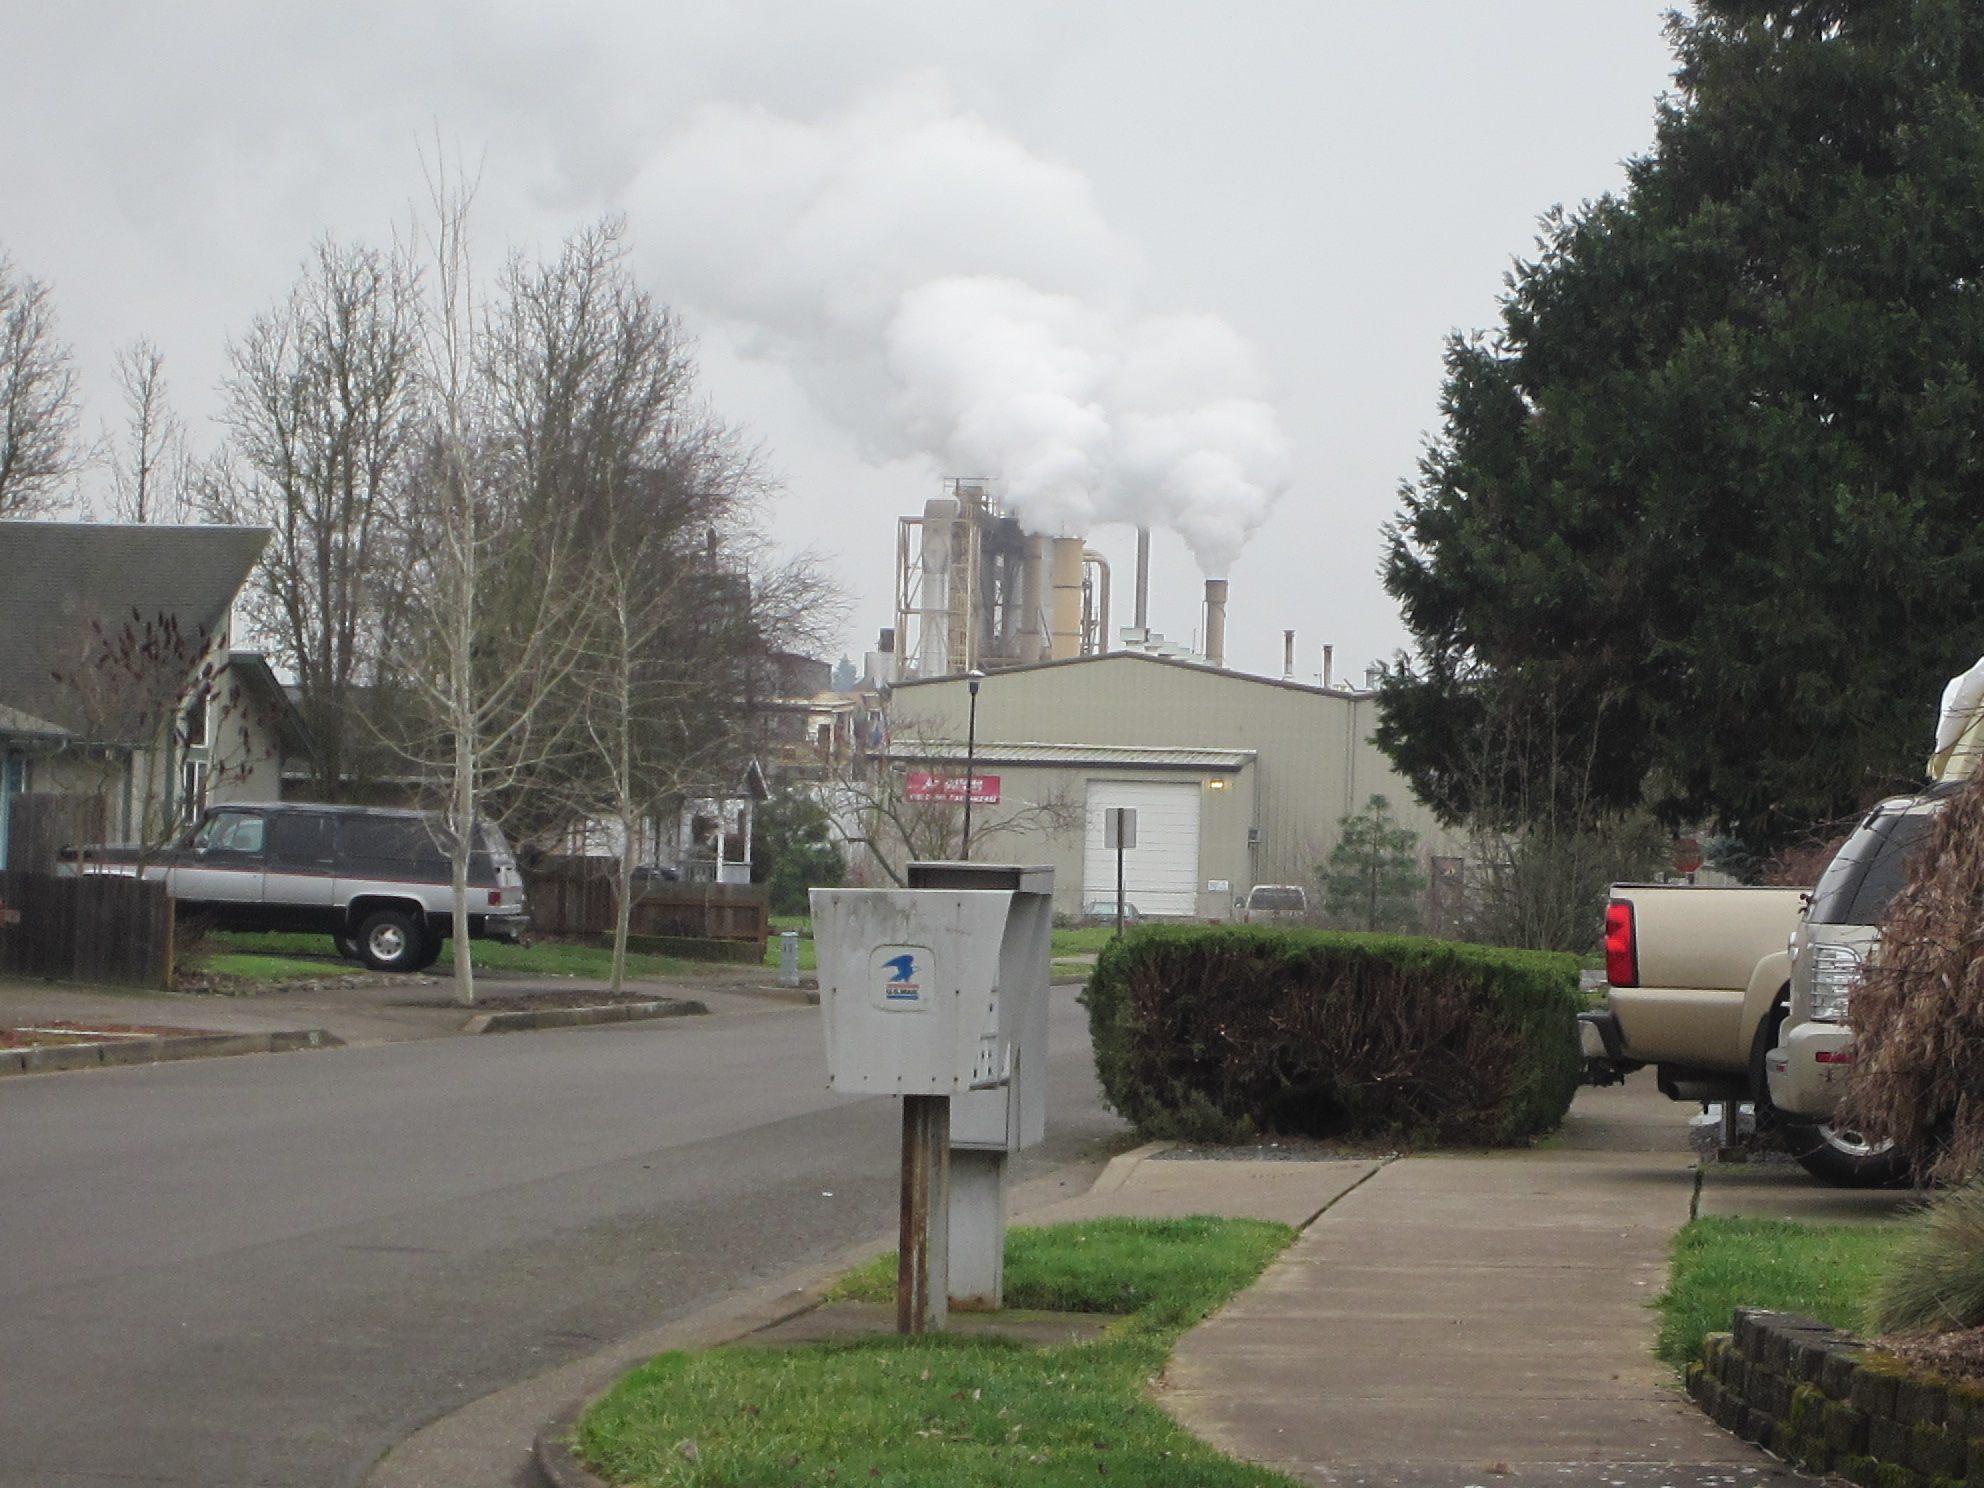
[[1861, 1309], [1899, 1224], [1796, 1224], [1706, 1218], [1674, 1236], [1661, 1307], [1661, 1357], [1676, 1369], [1726, 1333], [1736, 1307], [1780, 1307], [1833, 1327], [1861, 1327]]

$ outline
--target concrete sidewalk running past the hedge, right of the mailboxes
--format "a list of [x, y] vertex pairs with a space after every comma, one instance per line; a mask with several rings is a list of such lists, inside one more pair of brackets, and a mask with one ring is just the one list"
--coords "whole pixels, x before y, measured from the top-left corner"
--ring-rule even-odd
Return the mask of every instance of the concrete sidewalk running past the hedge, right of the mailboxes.
[[1165, 1407], [1317, 1484], [1801, 1480], [1653, 1357], [1649, 1303], [1694, 1196], [1686, 1117], [1651, 1081], [1587, 1089], [1534, 1153], [1387, 1165], [1180, 1341]]

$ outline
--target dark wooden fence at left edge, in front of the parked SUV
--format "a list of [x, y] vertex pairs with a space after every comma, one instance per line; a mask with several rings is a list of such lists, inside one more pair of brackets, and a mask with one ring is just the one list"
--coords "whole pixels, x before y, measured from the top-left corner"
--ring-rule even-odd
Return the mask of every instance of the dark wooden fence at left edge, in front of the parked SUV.
[[163, 883], [0, 873], [0, 974], [171, 986], [173, 899]]

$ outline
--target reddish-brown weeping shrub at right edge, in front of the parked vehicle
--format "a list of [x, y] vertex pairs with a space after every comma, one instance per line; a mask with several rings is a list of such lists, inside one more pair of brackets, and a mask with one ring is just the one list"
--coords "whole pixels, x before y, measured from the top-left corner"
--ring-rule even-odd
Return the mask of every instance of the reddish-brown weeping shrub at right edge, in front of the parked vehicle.
[[1853, 988], [1855, 1063], [1835, 1127], [1887, 1137], [1919, 1177], [1984, 1165], [1984, 774], [1936, 815]]

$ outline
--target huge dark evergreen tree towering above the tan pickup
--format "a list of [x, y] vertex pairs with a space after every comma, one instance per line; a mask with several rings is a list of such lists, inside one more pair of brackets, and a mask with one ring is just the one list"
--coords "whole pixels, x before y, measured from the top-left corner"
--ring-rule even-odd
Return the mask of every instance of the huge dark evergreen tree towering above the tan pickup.
[[1550, 212], [1448, 343], [1379, 742], [1448, 819], [1508, 815], [1482, 732], [1548, 698], [1593, 813], [1760, 849], [1921, 780], [1984, 649], [1984, 6], [1669, 34], [1625, 192]]

